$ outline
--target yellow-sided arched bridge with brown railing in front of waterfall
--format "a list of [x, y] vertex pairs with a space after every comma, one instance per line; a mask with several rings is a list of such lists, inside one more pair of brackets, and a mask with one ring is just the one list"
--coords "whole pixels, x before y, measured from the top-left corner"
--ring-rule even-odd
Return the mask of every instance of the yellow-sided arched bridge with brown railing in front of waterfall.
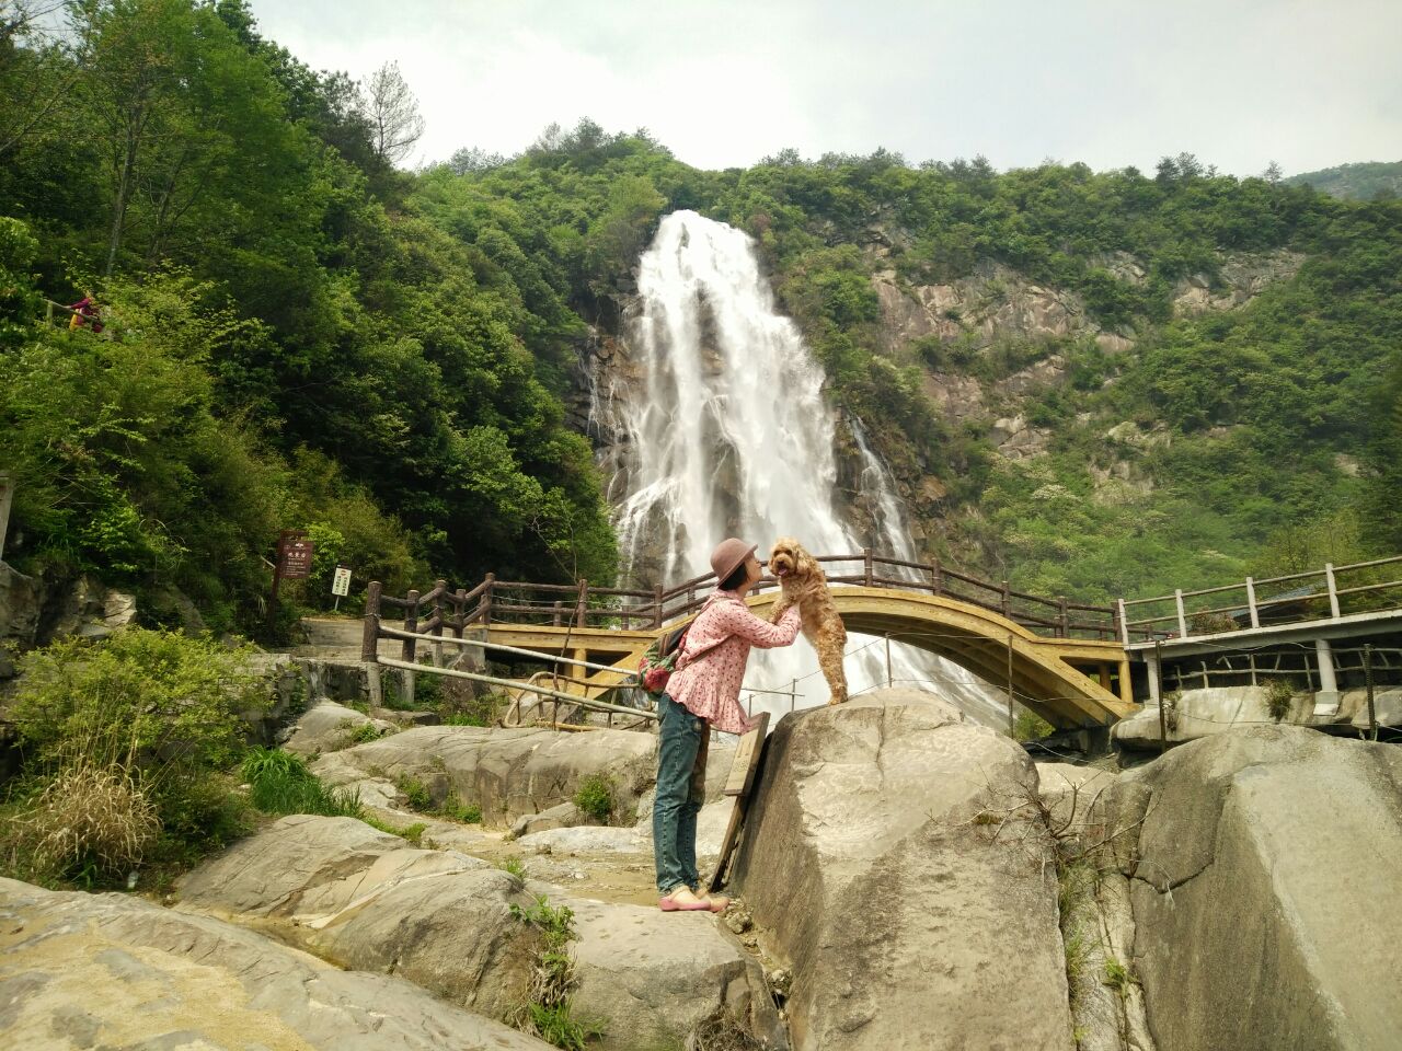
[[[882, 559], [869, 551], [820, 561], [862, 566], [858, 573], [829, 569], [850, 633], [889, 636], [946, 657], [997, 689], [1008, 687], [1011, 663], [1018, 702], [1057, 727], [1108, 726], [1138, 710], [1130, 699], [1120, 625], [1109, 607], [1028, 596], [938, 563]], [[460, 638], [470, 632], [499, 646], [611, 666], [557, 682], [566, 692], [601, 698], [637, 671], [638, 659], [660, 632], [694, 617], [714, 586], [711, 576], [653, 591], [489, 576], [471, 591], [449, 591], [439, 582], [428, 594], [391, 598], [372, 584], [365, 656], [374, 660], [386, 638], [380, 622], [388, 605], [404, 610], [404, 631], [426, 643], [447, 629]], [[767, 617], [778, 593], [773, 582], [761, 589], [747, 603]], [[402, 645], [404, 659], [414, 660], [415, 640], [402, 639]]]

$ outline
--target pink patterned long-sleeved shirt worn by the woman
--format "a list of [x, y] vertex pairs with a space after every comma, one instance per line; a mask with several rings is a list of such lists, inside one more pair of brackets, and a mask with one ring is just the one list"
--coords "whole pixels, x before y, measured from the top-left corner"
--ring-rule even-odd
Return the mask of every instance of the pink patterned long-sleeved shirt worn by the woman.
[[[679, 670], [667, 681], [667, 695], [691, 715], [711, 720], [716, 730], [743, 733], [740, 684], [750, 647], [788, 646], [801, 626], [796, 605], [791, 605], [778, 624], [770, 624], [751, 614], [735, 591], [718, 591], [687, 631]], [[695, 654], [694, 663], [691, 654]]]

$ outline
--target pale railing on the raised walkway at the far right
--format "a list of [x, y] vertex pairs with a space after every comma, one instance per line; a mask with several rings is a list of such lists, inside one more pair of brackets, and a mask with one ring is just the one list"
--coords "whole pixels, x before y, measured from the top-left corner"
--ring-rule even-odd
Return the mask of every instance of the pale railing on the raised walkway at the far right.
[[1122, 598], [1117, 619], [1120, 642], [1129, 646], [1396, 608], [1402, 608], [1402, 555], [1347, 566], [1325, 563], [1305, 573], [1246, 577], [1152, 598]]

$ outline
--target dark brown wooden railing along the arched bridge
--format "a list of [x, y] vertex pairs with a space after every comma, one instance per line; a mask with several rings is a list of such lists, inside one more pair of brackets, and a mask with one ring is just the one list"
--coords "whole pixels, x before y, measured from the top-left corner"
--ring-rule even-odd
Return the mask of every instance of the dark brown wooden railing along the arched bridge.
[[[990, 583], [935, 562], [906, 562], [876, 555], [871, 548], [851, 555], [823, 555], [819, 562], [831, 566], [827, 579], [834, 584], [859, 584], [955, 598], [1002, 614], [1029, 631], [1053, 638], [1116, 639], [1122, 635], [1117, 611], [1109, 605], [1071, 603], [1064, 597], [1015, 591], [1008, 582]], [[845, 565], [841, 565], [845, 563]], [[366, 593], [365, 659], [373, 660], [381, 636], [379, 625], [386, 608], [404, 611], [404, 631], [432, 642], [447, 629], [458, 639], [475, 624], [509, 622], [541, 626], [611, 628], [649, 631], [701, 608], [715, 589], [714, 573], [680, 584], [649, 590], [592, 587], [578, 584], [538, 584], [522, 580], [498, 580], [488, 573], [471, 591], [450, 590], [439, 580], [425, 594], [409, 591], [404, 598], [386, 596], [379, 582]], [[763, 577], [754, 590], [775, 587], [774, 577]], [[404, 660], [414, 660], [415, 642], [404, 640]]]

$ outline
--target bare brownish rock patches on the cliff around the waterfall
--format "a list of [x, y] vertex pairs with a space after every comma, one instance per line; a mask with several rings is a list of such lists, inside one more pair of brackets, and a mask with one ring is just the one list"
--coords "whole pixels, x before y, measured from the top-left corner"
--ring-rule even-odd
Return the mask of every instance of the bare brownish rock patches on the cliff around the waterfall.
[[[1178, 282], [1172, 291], [1173, 314], [1192, 317], [1239, 308], [1270, 284], [1293, 277], [1302, 261], [1304, 256], [1286, 249], [1224, 256], [1216, 279], [1190, 275]], [[1131, 284], [1147, 277], [1145, 268], [1124, 252], [1095, 262]], [[1113, 357], [1133, 352], [1138, 339], [1131, 328], [1102, 328], [1075, 293], [1037, 284], [1001, 263], [984, 262], [969, 276], [939, 284], [910, 284], [896, 270], [885, 268], [883, 259], [873, 256], [872, 263], [876, 268], [871, 282], [879, 304], [876, 339], [880, 352], [897, 363], [920, 363], [923, 392], [951, 432], [981, 436], [994, 454], [1007, 461], [1035, 461], [1050, 447], [1052, 427], [1029, 416], [1028, 406], [1047, 391], [1068, 387], [1071, 364], [1057, 348], [1082, 342]], [[641, 397], [639, 369], [625, 332], [637, 308], [635, 297], [618, 297], [599, 327], [580, 341], [573, 387], [566, 398], [571, 426], [594, 441], [606, 495], [614, 504], [628, 490], [632, 439], [600, 409], [610, 398]], [[956, 353], [932, 355], [931, 363], [916, 350], [923, 341], [953, 348]], [[1012, 370], [981, 364], [1008, 346], [1021, 348], [1019, 353], [1033, 360]], [[1039, 346], [1046, 349], [1039, 352]], [[935, 545], [949, 511], [946, 497], [952, 479], [938, 478], [903, 455], [897, 448], [899, 437], [887, 433], [885, 420], [865, 423], [876, 451], [894, 474], [917, 547]], [[1168, 437], [1140, 434], [1127, 420], [1110, 420], [1106, 430], [1109, 440], [1130, 448]], [[1124, 503], [1151, 492], [1152, 479], [1137, 461], [1138, 457], [1126, 455], [1088, 465], [1095, 499]], [[872, 509], [864, 502], [859, 482], [862, 461], [851, 429], [841, 420], [837, 467], [837, 499], [843, 514], [857, 533], [869, 535]], [[725, 479], [718, 483], [723, 486]]]

